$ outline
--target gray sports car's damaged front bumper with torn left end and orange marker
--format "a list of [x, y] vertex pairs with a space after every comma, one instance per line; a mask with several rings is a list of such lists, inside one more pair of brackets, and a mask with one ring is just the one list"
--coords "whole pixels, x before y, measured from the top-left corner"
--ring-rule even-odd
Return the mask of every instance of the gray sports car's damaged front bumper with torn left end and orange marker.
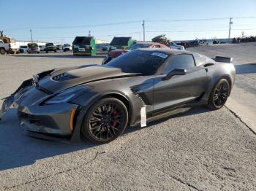
[[33, 79], [28, 79], [15, 93], [4, 98], [0, 119], [13, 106], [18, 109], [20, 126], [27, 135], [56, 141], [60, 139], [69, 139], [69, 142], [80, 141], [80, 122], [78, 124], [80, 106], [70, 103], [42, 105], [29, 98], [30, 90], [34, 93], [32, 95], [34, 100], [48, 95], [34, 85]]

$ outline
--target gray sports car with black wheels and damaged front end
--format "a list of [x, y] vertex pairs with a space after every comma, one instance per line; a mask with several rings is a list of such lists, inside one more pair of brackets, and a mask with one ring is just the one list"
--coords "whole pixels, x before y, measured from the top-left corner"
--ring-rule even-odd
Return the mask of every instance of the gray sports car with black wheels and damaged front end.
[[0, 118], [12, 105], [31, 136], [106, 143], [129, 125], [146, 126], [196, 105], [221, 108], [236, 75], [231, 60], [138, 49], [102, 66], [44, 71], [5, 98]]

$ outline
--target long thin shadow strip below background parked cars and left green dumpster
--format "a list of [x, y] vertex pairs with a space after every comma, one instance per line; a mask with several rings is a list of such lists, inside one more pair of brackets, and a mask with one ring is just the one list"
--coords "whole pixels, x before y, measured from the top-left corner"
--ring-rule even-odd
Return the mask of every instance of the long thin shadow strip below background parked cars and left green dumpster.
[[93, 55], [93, 56], [86, 56], [86, 55], [70, 55], [70, 54], [58, 54], [58, 53], [41, 53], [41, 54], [19, 54], [19, 55], [10, 55], [15, 57], [26, 57], [26, 58], [105, 58], [105, 55]]

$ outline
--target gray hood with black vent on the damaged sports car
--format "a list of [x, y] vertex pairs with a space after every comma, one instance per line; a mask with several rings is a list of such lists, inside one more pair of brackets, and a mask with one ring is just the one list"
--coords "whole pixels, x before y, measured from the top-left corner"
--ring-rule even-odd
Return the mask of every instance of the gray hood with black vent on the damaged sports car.
[[124, 73], [121, 69], [107, 66], [80, 66], [70, 67], [53, 71], [50, 75], [39, 80], [39, 87], [59, 93], [69, 87], [95, 82], [105, 79], [116, 79], [124, 77], [134, 77], [140, 74]]

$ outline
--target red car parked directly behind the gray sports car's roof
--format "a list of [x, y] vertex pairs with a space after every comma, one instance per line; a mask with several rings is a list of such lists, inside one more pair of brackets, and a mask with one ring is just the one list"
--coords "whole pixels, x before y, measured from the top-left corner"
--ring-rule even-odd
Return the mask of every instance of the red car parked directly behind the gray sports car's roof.
[[102, 64], [106, 64], [113, 60], [114, 58], [117, 58], [119, 55], [123, 55], [126, 52], [129, 52], [130, 50], [135, 50], [138, 48], [167, 48], [169, 47], [165, 46], [165, 44], [160, 44], [158, 42], [137, 42], [136, 44], [133, 44], [132, 46], [128, 47], [127, 50], [111, 50], [108, 52], [108, 55], [103, 59]]

